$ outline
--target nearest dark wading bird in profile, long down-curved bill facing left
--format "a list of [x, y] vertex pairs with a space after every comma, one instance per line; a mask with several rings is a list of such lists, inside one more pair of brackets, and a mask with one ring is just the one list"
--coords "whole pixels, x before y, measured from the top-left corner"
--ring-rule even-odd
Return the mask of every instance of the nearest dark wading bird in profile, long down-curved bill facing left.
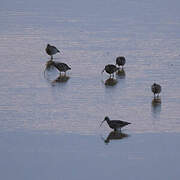
[[114, 131], [117, 131], [117, 130], [121, 131], [122, 127], [127, 126], [128, 124], [131, 124], [129, 122], [121, 121], [121, 120], [110, 120], [109, 117], [107, 117], [107, 116], [104, 118], [101, 125], [103, 124], [104, 121], [106, 121], [108, 123], [109, 127], [114, 129]]

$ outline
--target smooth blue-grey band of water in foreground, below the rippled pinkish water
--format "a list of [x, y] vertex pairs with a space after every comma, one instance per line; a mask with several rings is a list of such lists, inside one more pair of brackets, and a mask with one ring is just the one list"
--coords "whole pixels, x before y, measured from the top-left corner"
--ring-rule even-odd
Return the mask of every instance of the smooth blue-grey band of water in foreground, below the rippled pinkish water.
[[131, 134], [105, 144], [106, 136], [0, 134], [4, 179], [177, 179], [180, 134]]

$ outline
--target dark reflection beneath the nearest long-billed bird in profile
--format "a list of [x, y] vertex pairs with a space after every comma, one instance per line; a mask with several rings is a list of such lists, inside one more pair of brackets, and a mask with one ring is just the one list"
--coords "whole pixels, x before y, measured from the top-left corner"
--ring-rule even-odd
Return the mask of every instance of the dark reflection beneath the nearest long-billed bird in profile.
[[103, 137], [102, 137], [102, 139], [105, 144], [108, 144], [112, 140], [121, 140], [121, 139], [128, 138], [128, 137], [129, 137], [128, 134], [125, 134], [125, 133], [122, 133], [119, 131], [111, 131], [109, 133], [109, 135], [106, 137], [106, 139]]

